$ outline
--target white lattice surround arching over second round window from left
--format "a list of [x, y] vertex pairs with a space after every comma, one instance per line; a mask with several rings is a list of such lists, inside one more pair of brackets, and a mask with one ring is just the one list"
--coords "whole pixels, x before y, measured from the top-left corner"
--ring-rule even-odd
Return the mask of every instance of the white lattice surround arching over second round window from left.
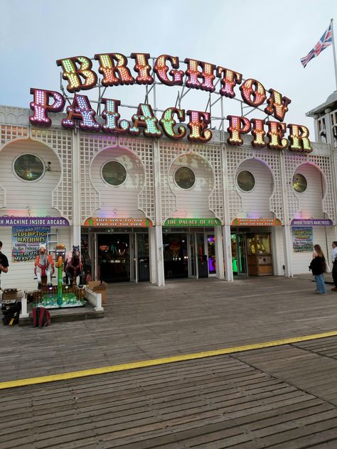
[[133, 151], [144, 165], [145, 183], [138, 195], [139, 209], [144, 211], [147, 218], [155, 219], [154, 202], [154, 163], [152, 141], [149, 139], [133, 139], [128, 137], [119, 137], [109, 135], [80, 135], [81, 151], [81, 192], [82, 220], [90, 217], [92, 213], [100, 207], [100, 194], [92, 185], [90, 179], [90, 164], [97, 152], [108, 146], [124, 146]]

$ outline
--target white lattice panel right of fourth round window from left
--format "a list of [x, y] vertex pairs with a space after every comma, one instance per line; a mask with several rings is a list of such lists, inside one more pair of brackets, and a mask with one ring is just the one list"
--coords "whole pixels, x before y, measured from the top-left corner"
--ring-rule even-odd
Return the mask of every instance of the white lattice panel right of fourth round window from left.
[[255, 149], [255, 158], [261, 159], [269, 166], [274, 180], [274, 193], [270, 198], [270, 210], [274, 212], [275, 217], [284, 222], [284, 207], [282, 198], [282, 179], [281, 179], [281, 160], [278, 151]]

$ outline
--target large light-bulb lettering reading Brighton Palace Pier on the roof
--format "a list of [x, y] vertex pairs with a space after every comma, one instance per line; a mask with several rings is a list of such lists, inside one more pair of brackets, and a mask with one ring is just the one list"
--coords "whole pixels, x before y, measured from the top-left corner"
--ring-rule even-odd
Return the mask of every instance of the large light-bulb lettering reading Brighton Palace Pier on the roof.
[[[265, 104], [264, 112], [270, 116], [270, 120], [247, 119], [228, 115], [228, 144], [242, 145], [242, 135], [252, 134], [252, 146], [258, 148], [272, 148], [282, 150], [309, 153], [312, 151], [309, 141], [309, 131], [304, 125], [286, 124], [284, 116], [288, 111], [291, 100], [282, 96], [277, 90], [266, 90], [258, 80], [248, 78], [243, 81], [242, 74], [220, 65], [204, 63], [203, 61], [186, 58], [185, 70], [179, 70], [179, 59], [176, 56], [160, 55], [154, 60], [154, 65], [149, 65], [148, 53], [132, 53], [129, 60], [121, 53], [102, 53], [95, 55], [97, 71], [103, 75], [103, 87], [116, 87], [119, 85], [152, 85], [156, 74], [159, 82], [166, 86], [182, 86], [188, 89], [215, 92], [215, 78], [220, 78], [218, 93], [223, 97], [234, 98], [237, 90], [243, 102], [250, 107], [260, 107]], [[130, 60], [134, 60], [128, 65]], [[62, 120], [64, 128], [74, 129], [76, 122], [84, 131], [102, 131], [112, 134], [130, 134], [158, 138], [165, 134], [169, 139], [183, 139], [186, 136], [192, 142], [208, 142], [212, 138], [210, 113], [193, 109], [178, 109], [168, 107], [160, 119], [154, 115], [150, 104], [141, 103], [137, 114], [133, 114], [131, 120], [121, 119], [118, 112], [121, 102], [119, 99], [102, 98], [104, 109], [100, 124], [95, 119], [95, 111], [86, 95], [77, 94], [82, 90], [90, 90], [97, 85], [97, 73], [92, 68], [92, 60], [85, 56], [60, 59], [57, 62], [63, 70], [63, 79], [68, 81], [67, 90], [75, 94], [73, 103], [66, 108], [68, 116]], [[243, 82], [242, 82], [243, 81]], [[237, 87], [239, 86], [239, 87]], [[236, 89], [235, 89], [236, 88]], [[52, 121], [49, 114], [62, 112], [65, 107], [65, 97], [60, 92], [53, 90], [31, 89], [33, 102], [31, 109], [33, 115], [29, 117], [31, 124], [36, 126], [50, 126]], [[178, 125], [186, 120], [186, 126]], [[273, 120], [276, 119], [277, 121]], [[176, 126], [177, 125], [177, 126]], [[286, 137], [287, 134], [287, 137]]]

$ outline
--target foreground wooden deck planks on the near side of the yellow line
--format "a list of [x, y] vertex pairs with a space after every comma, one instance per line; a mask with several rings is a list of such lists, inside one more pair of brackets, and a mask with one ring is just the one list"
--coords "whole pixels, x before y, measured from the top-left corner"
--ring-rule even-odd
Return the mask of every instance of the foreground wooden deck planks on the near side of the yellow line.
[[336, 448], [336, 367], [287, 345], [4, 390], [0, 447]]

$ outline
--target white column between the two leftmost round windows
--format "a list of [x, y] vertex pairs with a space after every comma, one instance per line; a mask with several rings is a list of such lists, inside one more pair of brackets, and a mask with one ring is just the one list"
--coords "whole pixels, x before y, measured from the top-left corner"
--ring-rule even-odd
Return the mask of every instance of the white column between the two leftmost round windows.
[[[70, 241], [72, 245], [81, 244], [81, 194], [80, 194], [80, 137], [75, 128], [73, 137], [73, 227]], [[72, 248], [70, 248], [72, 249]]]

